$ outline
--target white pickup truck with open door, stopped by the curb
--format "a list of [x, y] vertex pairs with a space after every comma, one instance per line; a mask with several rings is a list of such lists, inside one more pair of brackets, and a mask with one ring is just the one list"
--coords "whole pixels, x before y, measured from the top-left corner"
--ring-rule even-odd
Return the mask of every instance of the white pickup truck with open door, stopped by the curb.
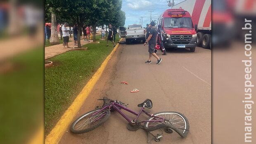
[[141, 24], [129, 25], [127, 29], [124, 26], [119, 26], [119, 37], [126, 38], [126, 44], [141, 40], [144, 43], [146, 41], [144, 30]]

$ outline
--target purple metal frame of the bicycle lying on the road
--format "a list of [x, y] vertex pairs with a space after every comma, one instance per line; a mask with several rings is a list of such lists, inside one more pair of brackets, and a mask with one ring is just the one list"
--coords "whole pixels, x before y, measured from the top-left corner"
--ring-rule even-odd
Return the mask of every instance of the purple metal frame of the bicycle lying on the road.
[[[100, 113], [101, 111], [103, 111], [104, 109], [110, 109], [111, 107], [113, 107], [117, 112], [119, 112], [121, 114], [121, 116], [123, 116], [123, 118], [125, 118], [129, 123], [132, 123], [133, 120], [131, 120], [130, 118], [128, 118], [128, 116], [126, 116], [119, 108], [121, 109], [124, 109], [125, 111], [128, 111], [132, 114], [134, 114], [136, 116], [135, 118], [135, 121], [139, 118], [140, 114], [143, 112], [145, 113], [147, 116], [151, 116], [151, 117], [154, 117], [154, 118], [158, 118], [157, 120], [143, 120], [141, 123], [145, 123], [145, 122], [163, 122], [164, 121], [164, 118], [160, 118], [158, 116], [154, 116], [153, 114], [151, 113], [148, 113], [146, 111], [144, 111], [145, 107], [142, 107], [140, 109], [140, 112], [139, 113], [136, 113], [128, 108], [126, 108], [125, 106], [121, 105], [121, 104], [118, 104], [116, 102], [112, 102], [110, 105], [107, 105], [107, 106], [104, 106], [100, 111], [97, 111], [96, 113], [92, 114], [92, 116], [96, 115], [97, 113]], [[104, 115], [103, 115], [104, 116]], [[100, 118], [102, 118], [102, 116], [100, 116], [99, 118], [97, 118], [96, 120], [99, 120]], [[161, 119], [161, 120], [159, 120]], [[95, 121], [96, 121], [95, 120]]]

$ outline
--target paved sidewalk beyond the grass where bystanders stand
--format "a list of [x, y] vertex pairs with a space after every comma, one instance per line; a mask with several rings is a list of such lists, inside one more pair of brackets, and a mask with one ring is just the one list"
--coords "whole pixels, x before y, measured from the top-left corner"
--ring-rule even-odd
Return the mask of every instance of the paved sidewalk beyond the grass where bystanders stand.
[[[70, 38], [70, 40], [73, 40], [73, 38]], [[90, 42], [92, 42], [92, 40], [90, 40]], [[85, 40], [81, 40], [81, 46], [90, 43], [88, 41]], [[50, 47], [45, 47], [45, 59], [49, 59], [51, 57], [57, 56], [59, 54], [62, 54], [64, 52], [70, 51], [73, 49], [73, 47], [77, 47], [76, 45], [74, 45], [74, 42], [69, 42], [69, 47], [70, 48], [63, 48], [63, 44], [59, 44], [59, 45], [52, 45]]]

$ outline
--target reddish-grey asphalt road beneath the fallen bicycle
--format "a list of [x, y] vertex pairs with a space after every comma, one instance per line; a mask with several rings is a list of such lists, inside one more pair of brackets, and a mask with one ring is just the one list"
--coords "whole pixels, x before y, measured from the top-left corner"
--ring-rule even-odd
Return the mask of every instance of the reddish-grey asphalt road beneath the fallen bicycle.
[[[141, 43], [120, 45], [77, 117], [102, 105], [97, 98], [103, 96], [128, 103], [128, 108], [137, 112], [137, 104], [149, 98], [153, 108], [147, 111], [178, 111], [190, 122], [187, 137], [164, 132], [159, 144], [211, 144], [211, 50], [167, 50], [167, 56], [159, 51], [157, 54], [163, 59], [159, 65], [156, 59], [145, 64], [147, 50]], [[135, 88], [140, 92], [130, 93]], [[143, 115], [140, 120], [146, 118]], [[66, 130], [59, 144], [147, 144], [147, 133], [142, 129], [129, 131], [127, 123], [113, 112], [106, 123], [91, 132], [74, 135]]]

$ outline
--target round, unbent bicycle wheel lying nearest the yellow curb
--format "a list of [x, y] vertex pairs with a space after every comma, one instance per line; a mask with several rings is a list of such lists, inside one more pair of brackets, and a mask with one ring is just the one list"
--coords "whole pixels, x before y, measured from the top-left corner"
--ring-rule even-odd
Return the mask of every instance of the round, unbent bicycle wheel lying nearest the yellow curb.
[[100, 109], [95, 109], [89, 111], [88, 113], [83, 114], [77, 118], [71, 125], [70, 131], [74, 134], [82, 134], [89, 132], [99, 127], [104, 123], [110, 116], [109, 109], [104, 109], [100, 113], [97, 113], [95, 116], [92, 116], [93, 113], [100, 111]]

